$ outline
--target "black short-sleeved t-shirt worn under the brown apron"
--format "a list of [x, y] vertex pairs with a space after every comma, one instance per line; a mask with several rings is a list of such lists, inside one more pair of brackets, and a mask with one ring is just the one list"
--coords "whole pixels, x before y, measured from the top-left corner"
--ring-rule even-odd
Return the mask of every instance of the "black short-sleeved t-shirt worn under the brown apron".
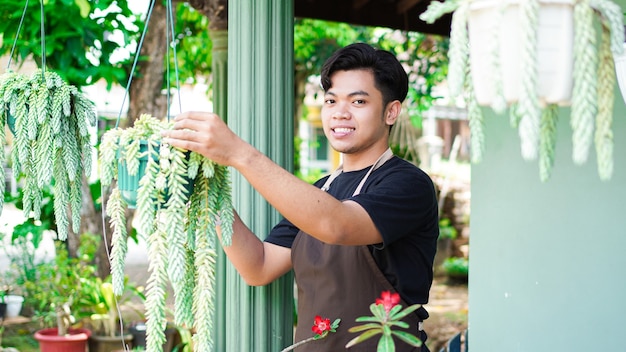
[[[415, 165], [394, 157], [372, 172], [361, 193], [353, 197], [368, 170], [341, 173], [328, 193], [337, 199], [353, 200], [367, 211], [383, 238], [383, 243], [369, 246], [378, 267], [408, 304], [425, 304], [439, 236], [432, 180]], [[315, 186], [321, 188], [327, 178], [318, 180]], [[291, 248], [298, 232], [283, 219], [265, 241]]]

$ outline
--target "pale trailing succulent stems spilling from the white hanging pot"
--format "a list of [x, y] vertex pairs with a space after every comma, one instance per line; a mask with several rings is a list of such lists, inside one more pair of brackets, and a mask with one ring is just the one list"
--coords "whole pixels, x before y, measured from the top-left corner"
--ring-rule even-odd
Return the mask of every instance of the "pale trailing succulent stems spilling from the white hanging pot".
[[[433, 1], [420, 18], [433, 23], [446, 13], [453, 12], [450, 31], [450, 66], [448, 86], [457, 96], [465, 87], [468, 101], [468, 119], [472, 129], [472, 161], [478, 162], [484, 150], [482, 113], [474, 97], [471, 75], [468, 71], [469, 36], [467, 21], [472, 3], [481, 0]], [[537, 94], [538, 70], [536, 65], [537, 24], [543, 0], [493, 2], [501, 14], [508, 6], [519, 6], [519, 27], [523, 28], [520, 40], [519, 99], [509, 106], [511, 125], [519, 131], [522, 157], [539, 158], [542, 181], [550, 178], [554, 164], [557, 104], [543, 104]], [[572, 0], [574, 23], [574, 68], [571, 97], [572, 159], [576, 164], [587, 161], [589, 149], [595, 143], [600, 179], [609, 180], [613, 173], [612, 112], [614, 102], [615, 69], [613, 55], [621, 54], [624, 42], [623, 13], [611, 0]], [[596, 26], [596, 20], [599, 26]], [[600, 28], [600, 44], [596, 45], [596, 27]], [[501, 31], [494, 28], [493, 38], [484, 40], [493, 44], [488, 59], [493, 70], [500, 65], [497, 50]], [[476, 78], [477, 79], [477, 78]], [[507, 104], [503, 97], [502, 82], [494, 75], [496, 98], [491, 108], [502, 113]], [[595, 131], [595, 133], [594, 133]]]

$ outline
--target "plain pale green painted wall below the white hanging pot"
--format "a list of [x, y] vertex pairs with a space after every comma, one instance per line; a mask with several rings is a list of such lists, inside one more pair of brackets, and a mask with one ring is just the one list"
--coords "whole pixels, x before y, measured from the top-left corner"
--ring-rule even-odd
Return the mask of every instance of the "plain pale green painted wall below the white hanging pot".
[[472, 166], [471, 351], [626, 351], [626, 106], [616, 85], [615, 169], [595, 150], [571, 159], [559, 111], [552, 178], [520, 154], [508, 117], [485, 109], [486, 153]]

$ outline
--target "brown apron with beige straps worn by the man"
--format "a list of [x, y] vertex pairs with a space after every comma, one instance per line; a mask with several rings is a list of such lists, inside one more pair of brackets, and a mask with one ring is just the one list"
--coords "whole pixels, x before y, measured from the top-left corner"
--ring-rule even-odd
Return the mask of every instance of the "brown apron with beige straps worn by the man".
[[[388, 150], [372, 165], [354, 195], [359, 194], [370, 173], [392, 156]], [[322, 189], [327, 190], [339, 173], [341, 167], [329, 177]], [[368, 246], [330, 245], [300, 231], [291, 247], [291, 260], [298, 286], [298, 328], [294, 341], [299, 342], [314, 335], [311, 327], [316, 315], [328, 318], [331, 322], [341, 319], [337, 332], [302, 345], [296, 349], [298, 352], [345, 350], [346, 343], [360, 334], [348, 332], [349, 328], [363, 324], [357, 323], [356, 318], [372, 316], [369, 307], [383, 291], [396, 292], [378, 268]], [[406, 302], [400, 303], [407, 307]], [[405, 331], [419, 337], [421, 323], [417, 314], [410, 314], [404, 321], [410, 325]], [[376, 351], [379, 337], [377, 335], [361, 342], [350, 348], [350, 351]], [[398, 352], [420, 351], [403, 341], [394, 340]]]

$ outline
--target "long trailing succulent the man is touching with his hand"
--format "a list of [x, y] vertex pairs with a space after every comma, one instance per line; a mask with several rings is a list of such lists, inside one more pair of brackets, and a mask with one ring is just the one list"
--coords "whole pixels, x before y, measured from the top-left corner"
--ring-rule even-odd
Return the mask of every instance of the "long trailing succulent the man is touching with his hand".
[[133, 127], [115, 128], [102, 137], [102, 184], [108, 186], [117, 179], [106, 209], [113, 228], [113, 289], [116, 294], [123, 291], [127, 249], [125, 209], [129, 197], [119, 188], [122, 175], [118, 173], [144, 171], [138, 182], [135, 223], [139, 237], [148, 244], [147, 350], [160, 351], [165, 342], [169, 282], [175, 294], [175, 324], [195, 329], [195, 351], [210, 351], [216, 227], [221, 228], [222, 243], [230, 245], [234, 218], [229, 173], [200, 154], [161, 144], [161, 131], [171, 126], [169, 121], [144, 114]]

